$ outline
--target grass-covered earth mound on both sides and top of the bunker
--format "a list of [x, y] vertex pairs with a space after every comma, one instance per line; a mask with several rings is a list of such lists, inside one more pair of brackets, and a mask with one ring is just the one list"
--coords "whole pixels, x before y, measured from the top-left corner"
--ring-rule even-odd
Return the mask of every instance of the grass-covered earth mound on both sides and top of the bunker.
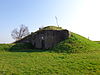
[[[47, 26], [41, 30], [64, 30], [61, 27]], [[0, 51], [30, 51], [32, 50], [31, 44], [0, 44]], [[91, 41], [83, 36], [71, 32], [71, 37], [58, 43], [51, 51], [65, 52], [65, 53], [77, 53], [87, 52], [92, 50], [100, 50], [99, 41]], [[38, 51], [38, 50], [37, 50]], [[46, 50], [41, 50], [46, 51]]]

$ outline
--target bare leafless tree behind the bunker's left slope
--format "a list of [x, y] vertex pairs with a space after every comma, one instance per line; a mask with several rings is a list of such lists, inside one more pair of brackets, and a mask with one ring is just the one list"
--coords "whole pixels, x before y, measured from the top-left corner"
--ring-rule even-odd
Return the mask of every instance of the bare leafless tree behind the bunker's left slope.
[[15, 40], [20, 40], [27, 35], [29, 35], [28, 27], [23, 24], [20, 26], [19, 29], [15, 28], [11, 33], [12, 38]]

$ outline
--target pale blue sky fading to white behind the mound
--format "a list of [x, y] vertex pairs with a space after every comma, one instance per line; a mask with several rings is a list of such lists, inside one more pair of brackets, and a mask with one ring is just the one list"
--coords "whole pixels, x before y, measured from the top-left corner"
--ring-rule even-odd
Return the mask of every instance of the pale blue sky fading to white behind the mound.
[[57, 26], [100, 41], [100, 0], [0, 0], [0, 43], [14, 42], [13, 29], [21, 24], [30, 32]]

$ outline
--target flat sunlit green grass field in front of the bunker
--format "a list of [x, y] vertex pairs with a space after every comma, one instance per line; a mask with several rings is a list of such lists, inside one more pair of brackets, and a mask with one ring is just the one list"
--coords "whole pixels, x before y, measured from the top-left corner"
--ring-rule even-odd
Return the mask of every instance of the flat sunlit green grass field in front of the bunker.
[[100, 75], [100, 51], [0, 52], [0, 75]]

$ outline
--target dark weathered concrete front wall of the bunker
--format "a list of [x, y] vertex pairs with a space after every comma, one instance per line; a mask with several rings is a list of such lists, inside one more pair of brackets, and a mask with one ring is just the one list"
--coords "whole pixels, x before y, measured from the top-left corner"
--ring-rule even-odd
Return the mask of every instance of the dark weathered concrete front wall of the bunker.
[[17, 43], [32, 43], [33, 48], [49, 49], [70, 36], [68, 30], [42, 30], [17, 41]]

